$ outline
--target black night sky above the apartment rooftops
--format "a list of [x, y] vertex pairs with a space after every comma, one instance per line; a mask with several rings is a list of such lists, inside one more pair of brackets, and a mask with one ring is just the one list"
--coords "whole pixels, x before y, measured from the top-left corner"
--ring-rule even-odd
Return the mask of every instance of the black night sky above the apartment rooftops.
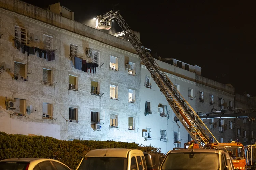
[[[39, 7], [60, 2], [88, 24], [114, 8], [142, 44], [162, 58], [202, 68], [204, 77], [230, 83], [236, 92], [256, 96], [256, 12], [254, 1], [79, 1], [24, 0]], [[114, 22], [112, 31], [122, 31]]]

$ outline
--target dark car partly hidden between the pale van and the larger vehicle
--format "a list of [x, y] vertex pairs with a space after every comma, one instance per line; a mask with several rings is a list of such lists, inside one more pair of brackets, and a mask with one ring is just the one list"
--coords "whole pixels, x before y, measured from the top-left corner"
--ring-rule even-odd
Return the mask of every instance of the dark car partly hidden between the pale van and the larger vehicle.
[[159, 170], [160, 166], [165, 158], [165, 155], [160, 153], [146, 153], [144, 152], [146, 159], [147, 170]]

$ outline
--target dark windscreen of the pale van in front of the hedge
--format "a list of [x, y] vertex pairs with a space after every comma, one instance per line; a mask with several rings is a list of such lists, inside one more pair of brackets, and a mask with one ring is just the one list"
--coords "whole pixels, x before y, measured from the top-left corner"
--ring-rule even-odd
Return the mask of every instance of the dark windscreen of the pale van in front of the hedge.
[[78, 170], [127, 170], [127, 158], [84, 158]]

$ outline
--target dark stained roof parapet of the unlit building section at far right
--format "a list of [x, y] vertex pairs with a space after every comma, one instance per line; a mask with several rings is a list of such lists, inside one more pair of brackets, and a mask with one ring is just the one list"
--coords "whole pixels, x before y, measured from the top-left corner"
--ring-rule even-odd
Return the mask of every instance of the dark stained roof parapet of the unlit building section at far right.
[[196, 82], [234, 95], [234, 87], [202, 77], [201, 75], [196, 75]]

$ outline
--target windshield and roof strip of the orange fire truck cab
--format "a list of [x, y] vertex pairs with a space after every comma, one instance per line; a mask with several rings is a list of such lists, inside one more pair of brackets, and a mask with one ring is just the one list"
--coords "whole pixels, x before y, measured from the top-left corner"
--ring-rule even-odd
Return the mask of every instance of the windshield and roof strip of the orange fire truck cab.
[[233, 146], [233, 145], [221, 146], [221, 145], [217, 145], [217, 146], [213, 146], [212, 148], [213, 149], [220, 148], [220, 149], [226, 151], [224, 147], [227, 149], [231, 159], [245, 159], [244, 149], [241, 146]]

